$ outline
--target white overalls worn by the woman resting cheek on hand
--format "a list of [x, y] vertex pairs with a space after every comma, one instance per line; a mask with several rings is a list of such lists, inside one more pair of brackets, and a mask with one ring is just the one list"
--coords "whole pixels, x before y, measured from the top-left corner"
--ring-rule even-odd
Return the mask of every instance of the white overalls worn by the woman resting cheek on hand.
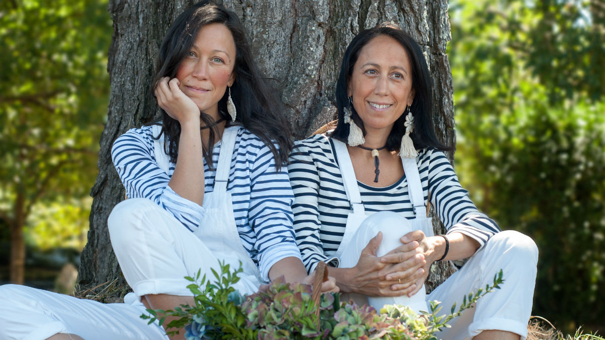
[[[213, 280], [218, 260], [232, 268], [243, 266], [235, 288], [256, 292], [261, 283], [258, 267], [241, 244], [235, 226], [231, 194], [226, 191], [237, 127], [224, 131], [214, 191], [204, 194], [206, 218], [194, 233], [172, 214], [145, 198], [117, 204], [108, 220], [112, 246], [122, 272], [134, 290], [125, 303], [103, 304], [26, 286], [0, 286], [0, 339], [46, 339], [71, 333], [84, 339], [168, 339], [162, 327], [148, 325], [139, 296], [170, 294], [191, 296], [184, 276], [201, 274]], [[154, 131], [157, 136], [158, 130]], [[160, 168], [168, 172], [163, 140], [155, 141]], [[197, 237], [193, 237], [193, 236]], [[213, 280], [214, 281], [214, 280]]]

